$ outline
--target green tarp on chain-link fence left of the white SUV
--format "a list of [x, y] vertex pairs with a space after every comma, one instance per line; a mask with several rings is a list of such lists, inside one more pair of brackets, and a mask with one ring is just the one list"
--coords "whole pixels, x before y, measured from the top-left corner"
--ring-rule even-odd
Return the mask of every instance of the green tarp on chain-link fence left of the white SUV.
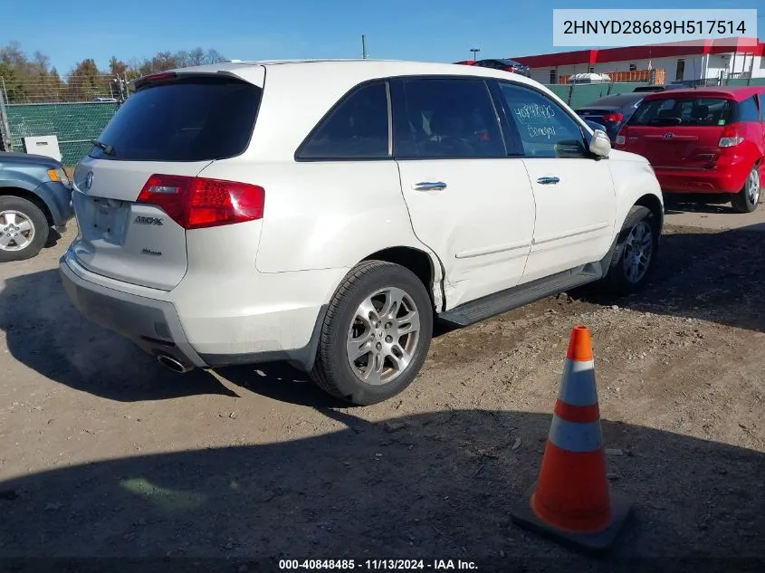
[[55, 135], [62, 164], [76, 165], [119, 107], [113, 102], [8, 104], [12, 150], [24, 151], [24, 138]]

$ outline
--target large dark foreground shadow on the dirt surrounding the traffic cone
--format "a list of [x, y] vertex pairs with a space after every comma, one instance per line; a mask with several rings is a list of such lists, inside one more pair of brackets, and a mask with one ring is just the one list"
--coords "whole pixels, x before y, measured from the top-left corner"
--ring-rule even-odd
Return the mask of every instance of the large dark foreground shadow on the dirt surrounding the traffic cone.
[[[0, 483], [0, 563], [428, 557], [483, 559], [494, 570], [514, 570], [514, 559], [582, 570], [591, 562], [509, 518], [536, 478], [550, 415], [463, 410], [373, 424], [326, 414], [349, 429]], [[624, 454], [607, 458], [612, 490], [636, 503], [606, 558], [610, 570], [646, 556], [725, 558], [728, 570], [742, 570], [733, 558], [765, 559], [765, 454], [636, 425], [604, 422], [603, 430], [607, 447]], [[231, 563], [206, 570], [241, 570]]]

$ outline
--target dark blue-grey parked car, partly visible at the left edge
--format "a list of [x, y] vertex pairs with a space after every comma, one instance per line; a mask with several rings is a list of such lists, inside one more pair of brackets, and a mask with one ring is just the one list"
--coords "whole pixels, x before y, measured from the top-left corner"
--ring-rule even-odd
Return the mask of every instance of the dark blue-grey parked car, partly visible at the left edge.
[[72, 184], [60, 162], [0, 152], [0, 263], [31, 259], [51, 227], [63, 233], [72, 216]]

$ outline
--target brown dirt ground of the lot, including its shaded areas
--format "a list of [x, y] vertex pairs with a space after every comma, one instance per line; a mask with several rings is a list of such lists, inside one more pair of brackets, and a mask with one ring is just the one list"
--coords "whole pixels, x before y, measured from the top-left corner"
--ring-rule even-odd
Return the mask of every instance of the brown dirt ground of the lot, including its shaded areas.
[[[56, 269], [70, 230], [0, 267], [0, 564], [763, 567], [765, 234], [721, 231], [716, 217], [737, 215], [710, 213], [706, 229], [667, 227], [645, 293], [586, 289], [444, 332], [403, 395], [352, 408], [282, 365], [175, 375], [81, 319]], [[598, 562], [510, 520], [577, 323], [593, 333], [612, 491], [635, 503]]]

